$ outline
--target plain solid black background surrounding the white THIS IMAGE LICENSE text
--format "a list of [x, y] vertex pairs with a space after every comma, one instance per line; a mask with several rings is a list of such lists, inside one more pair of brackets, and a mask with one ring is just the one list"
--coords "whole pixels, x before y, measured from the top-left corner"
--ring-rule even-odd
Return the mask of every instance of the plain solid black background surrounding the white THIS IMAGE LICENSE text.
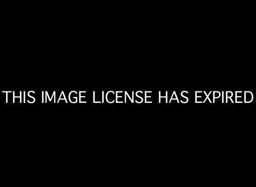
[[[154, 104], [5, 105], [1, 96], [5, 176], [120, 184], [250, 178], [255, 101], [196, 105], [193, 95], [255, 95], [247, 7], [36, 7], [3, 13], [1, 91], [151, 90]], [[183, 90], [188, 104], [157, 104], [158, 91]]]

